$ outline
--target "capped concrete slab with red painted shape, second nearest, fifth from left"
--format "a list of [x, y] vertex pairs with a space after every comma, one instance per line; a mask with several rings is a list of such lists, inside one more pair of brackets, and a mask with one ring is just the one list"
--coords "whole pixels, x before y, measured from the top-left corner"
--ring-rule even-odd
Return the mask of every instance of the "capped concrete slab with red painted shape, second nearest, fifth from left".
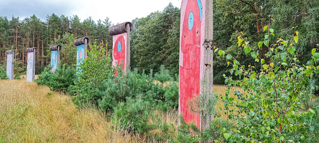
[[[118, 65], [122, 64], [122, 70], [124, 72], [131, 70], [130, 33], [132, 30], [133, 24], [131, 22], [124, 22], [112, 26], [109, 30], [111, 35], [115, 34], [113, 35], [112, 65], [116, 68]], [[115, 75], [117, 75], [117, 72]]]

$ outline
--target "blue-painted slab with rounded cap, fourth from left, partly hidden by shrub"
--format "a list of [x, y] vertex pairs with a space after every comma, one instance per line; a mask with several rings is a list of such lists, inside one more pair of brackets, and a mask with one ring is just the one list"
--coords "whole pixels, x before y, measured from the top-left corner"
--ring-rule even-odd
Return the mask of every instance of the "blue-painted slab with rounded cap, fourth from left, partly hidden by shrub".
[[84, 60], [87, 57], [87, 48], [88, 48], [88, 44], [90, 43], [90, 38], [88, 37], [83, 37], [83, 38], [79, 38], [76, 39], [74, 41], [74, 45], [77, 46], [76, 47], [76, 69], [77, 72], [76, 74], [80, 74], [81, 73], [81, 68], [79, 67]]

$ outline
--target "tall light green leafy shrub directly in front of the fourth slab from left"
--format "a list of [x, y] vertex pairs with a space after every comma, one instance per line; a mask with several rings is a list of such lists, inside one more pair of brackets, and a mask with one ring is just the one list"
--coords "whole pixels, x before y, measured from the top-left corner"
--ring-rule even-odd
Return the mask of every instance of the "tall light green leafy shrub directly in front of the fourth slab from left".
[[107, 45], [90, 45], [87, 59], [79, 67], [79, 74], [75, 86], [69, 88], [69, 94], [75, 95], [72, 99], [77, 106], [94, 105], [98, 107], [97, 95], [99, 87], [104, 80], [114, 74], [110, 53], [106, 51]]

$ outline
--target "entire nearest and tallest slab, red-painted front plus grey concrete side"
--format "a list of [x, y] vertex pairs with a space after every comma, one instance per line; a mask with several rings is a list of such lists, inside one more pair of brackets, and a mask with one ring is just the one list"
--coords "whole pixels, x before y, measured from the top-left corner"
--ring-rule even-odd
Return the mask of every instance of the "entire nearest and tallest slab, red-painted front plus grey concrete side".
[[[200, 81], [208, 81], [213, 92], [213, 0], [182, 0], [179, 49], [178, 112], [186, 123], [201, 127], [200, 114], [192, 113], [187, 101], [201, 92]], [[203, 129], [209, 128], [213, 115], [203, 118]]]

